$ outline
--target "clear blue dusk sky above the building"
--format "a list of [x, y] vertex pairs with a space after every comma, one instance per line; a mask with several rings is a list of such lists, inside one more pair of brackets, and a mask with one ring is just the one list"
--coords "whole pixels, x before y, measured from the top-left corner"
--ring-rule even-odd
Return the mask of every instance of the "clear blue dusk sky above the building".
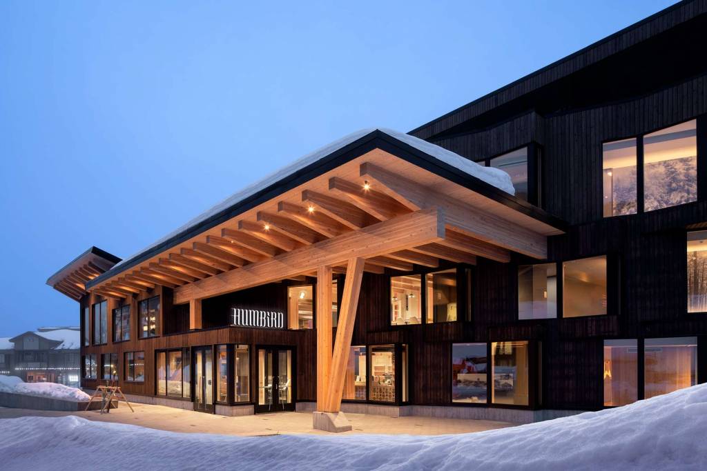
[[409, 131], [673, 1], [0, 2], [0, 336], [357, 129]]

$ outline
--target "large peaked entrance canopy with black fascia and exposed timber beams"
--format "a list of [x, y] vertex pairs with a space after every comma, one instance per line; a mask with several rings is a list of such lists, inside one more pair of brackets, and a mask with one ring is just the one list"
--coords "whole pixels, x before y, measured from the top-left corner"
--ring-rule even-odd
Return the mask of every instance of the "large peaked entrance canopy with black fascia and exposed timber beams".
[[[510, 252], [546, 258], [547, 237], [564, 227], [543, 210], [375, 130], [183, 227], [89, 280], [86, 289], [129, 297], [163, 285], [175, 288], [179, 304], [310, 274], [317, 263], [343, 267], [358, 246], [366, 270], [376, 273], [440, 260], [475, 263], [476, 256], [509, 261]], [[399, 239], [385, 244], [385, 234]]]

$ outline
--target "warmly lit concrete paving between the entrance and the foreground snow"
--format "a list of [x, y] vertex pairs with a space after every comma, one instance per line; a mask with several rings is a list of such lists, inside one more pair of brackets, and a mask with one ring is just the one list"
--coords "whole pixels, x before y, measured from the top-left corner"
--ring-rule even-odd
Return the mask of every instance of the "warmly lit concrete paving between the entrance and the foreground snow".
[[[139, 425], [168, 431], [240, 436], [267, 436], [277, 434], [329, 434], [312, 429], [310, 412], [280, 412], [276, 414], [226, 417], [161, 405], [133, 404], [135, 412], [121, 403], [109, 414], [98, 411], [54, 412], [28, 409], [0, 409], [0, 419], [14, 417], [64, 417], [76, 415], [100, 422]], [[513, 427], [508, 422], [470, 419], [437, 419], [433, 417], [384, 417], [381, 415], [347, 414], [354, 430], [344, 434], [409, 434], [439, 435], [467, 434], [474, 431]]]

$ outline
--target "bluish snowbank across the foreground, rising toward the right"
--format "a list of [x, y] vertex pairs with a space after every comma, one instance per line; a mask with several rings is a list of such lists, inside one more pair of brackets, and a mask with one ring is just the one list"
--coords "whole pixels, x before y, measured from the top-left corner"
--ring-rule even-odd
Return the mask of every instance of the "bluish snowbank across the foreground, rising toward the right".
[[177, 434], [79, 417], [23, 417], [0, 420], [0, 468], [704, 470], [706, 415], [707, 384], [613, 410], [433, 437], [245, 438]]

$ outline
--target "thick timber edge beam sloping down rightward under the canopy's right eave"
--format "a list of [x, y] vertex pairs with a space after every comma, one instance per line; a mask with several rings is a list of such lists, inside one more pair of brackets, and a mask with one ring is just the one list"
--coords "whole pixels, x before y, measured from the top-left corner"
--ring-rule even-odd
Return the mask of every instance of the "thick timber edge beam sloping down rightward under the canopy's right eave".
[[547, 258], [547, 237], [527, 227], [474, 208], [370, 162], [361, 164], [359, 171], [362, 177], [375, 183], [376, 189], [395, 198], [407, 208], [443, 208], [448, 227], [454, 227], [487, 244], [534, 258]]

